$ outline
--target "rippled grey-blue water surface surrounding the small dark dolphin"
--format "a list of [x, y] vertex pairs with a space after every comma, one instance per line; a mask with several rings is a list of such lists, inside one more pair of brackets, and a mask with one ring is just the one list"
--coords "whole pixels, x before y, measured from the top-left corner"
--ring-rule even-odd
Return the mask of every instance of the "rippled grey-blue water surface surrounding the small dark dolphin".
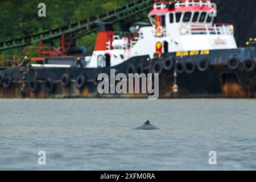
[[[256, 100], [0, 100], [0, 169], [256, 169], [255, 109]], [[161, 130], [131, 130], [147, 119]]]

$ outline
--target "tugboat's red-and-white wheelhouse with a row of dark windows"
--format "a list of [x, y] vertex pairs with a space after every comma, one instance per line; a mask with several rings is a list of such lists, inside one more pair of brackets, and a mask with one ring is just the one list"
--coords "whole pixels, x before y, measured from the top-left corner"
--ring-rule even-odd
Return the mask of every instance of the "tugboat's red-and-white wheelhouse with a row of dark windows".
[[148, 18], [156, 31], [155, 36], [167, 36], [166, 32], [174, 32], [177, 28], [180, 35], [232, 35], [232, 25], [213, 24], [215, 15], [216, 9], [208, 0], [155, 1]]

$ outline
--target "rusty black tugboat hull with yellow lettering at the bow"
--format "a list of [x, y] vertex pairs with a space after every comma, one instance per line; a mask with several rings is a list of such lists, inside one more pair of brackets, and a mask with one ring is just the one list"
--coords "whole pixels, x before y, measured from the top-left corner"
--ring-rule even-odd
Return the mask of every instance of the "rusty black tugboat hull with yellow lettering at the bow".
[[[256, 60], [256, 48], [238, 48], [212, 51], [185, 51], [163, 53], [158, 59], [149, 59], [149, 56], [133, 57], [125, 63], [117, 65], [117, 73], [127, 74], [129, 65], [133, 65], [134, 72], [143, 68], [144, 73], [154, 72], [154, 61], [175, 60], [170, 70], [162, 68], [159, 74], [159, 98], [253, 98], [256, 97], [256, 68], [245, 69], [243, 61]], [[232, 65], [232, 59], [239, 61]], [[208, 60], [209, 67], [202, 71], [198, 68], [200, 60]], [[190, 61], [193, 67], [184, 69]], [[176, 70], [177, 63], [183, 67]], [[231, 66], [230, 66], [231, 65]], [[232, 67], [233, 66], [233, 67]], [[174, 92], [175, 74], [176, 84], [179, 87]], [[12, 78], [10, 85], [3, 80], [0, 86], [0, 98], [147, 98], [147, 94], [99, 94], [96, 78], [100, 73], [110, 75], [110, 68], [9, 68], [1, 71], [5, 76]], [[26, 73], [23, 75], [23, 73]], [[69, 75], [68, 85], [61, 84], [63, 75]], [[77, 88], [77, 77], [84, 75], [85, 84]], [[52, 89], [47, 91], [46, 80], [53, 81]], [[31, 91], [30, 82], [36, 80], [36, 90]]]

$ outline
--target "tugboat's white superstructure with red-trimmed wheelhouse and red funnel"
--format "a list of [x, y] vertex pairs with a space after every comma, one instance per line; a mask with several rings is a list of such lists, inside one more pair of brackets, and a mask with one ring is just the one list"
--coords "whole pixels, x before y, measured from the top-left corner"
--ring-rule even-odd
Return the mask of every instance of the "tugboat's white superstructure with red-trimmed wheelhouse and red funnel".
[[134, 36], [119, 38], [113, 32], [99, 32], [86, 67], [113, 67], [130, 57], [152, 58], [155, 53], [237, 48], [234, 27], [213, 23], [213, 6], [208, 0], [155, 2], [148, 14], [151, 26], [137, 27]]

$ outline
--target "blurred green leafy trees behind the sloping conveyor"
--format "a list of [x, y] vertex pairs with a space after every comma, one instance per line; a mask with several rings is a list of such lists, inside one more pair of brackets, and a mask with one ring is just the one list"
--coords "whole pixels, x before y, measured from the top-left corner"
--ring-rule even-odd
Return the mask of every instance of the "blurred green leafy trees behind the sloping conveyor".
[[[46, 4], [47, 16], [43, 18], [38, 16], [40, 2]], [[1, 0], [0, 42], [67, 26], [117, 9], [126, 3], [124, 0]], [[84, 36], [77, 40], [77, 46], [85, 46], [88, 51], [92, 51], [95, 39], [96, 34]]]

